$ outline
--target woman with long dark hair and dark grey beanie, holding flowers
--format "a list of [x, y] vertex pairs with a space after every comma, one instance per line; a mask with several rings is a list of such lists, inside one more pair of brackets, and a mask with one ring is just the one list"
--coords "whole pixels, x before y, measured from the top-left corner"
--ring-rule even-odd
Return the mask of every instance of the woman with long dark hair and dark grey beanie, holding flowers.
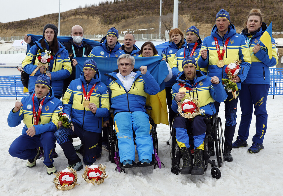
[[36, 58], [36, 55], [39, 54], [39, 49], [46, 48], [46, 50], [55, 53], [53, 59], [48, 63], [48, 68], [41, 66], [32, 76], [29, 76], [29, 93], [34, 91], [36, 78], [40, 74], [46, 73], [50, 77], [50, 86], [53, 89], [54, 96], [58, 99], [62, 96], [64, 79], [70, 76], [72, 67], [68, 51], [65, 50], [65, 47], [57, 40], [57, 34], [58, 28], [55, 25], [45, 25], [43, 28], [43, 38], [34, 42], [35, 45], [30, 48], [22, 62], [22, 67], [25, 72], [32, 74], [36, 71], [39, 64], [39, 60]]

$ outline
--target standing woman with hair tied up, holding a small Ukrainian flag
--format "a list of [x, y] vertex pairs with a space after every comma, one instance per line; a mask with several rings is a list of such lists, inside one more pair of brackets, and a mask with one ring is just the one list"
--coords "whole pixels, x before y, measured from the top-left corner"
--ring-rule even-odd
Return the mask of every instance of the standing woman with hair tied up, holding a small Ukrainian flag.
[[269, 59], [267, 47], [259, 42], [259, 38], [266, 29], [267, 25], [262, 22], [261, 11], [252, 9], [242, 30], [251, 54], [251, 67], [247, 78], [242, 82], [241, 91], [239, 91], [242, 116], [237, 139], [232, 145], [232, 148], [248, 146], [247, 139], [254, 108], [256, 134], [252, 139], [251, 147], [248, 149], [250, 153], [257, 153], [264, 148], [263, 138], [267, 129], [266, 101], [270, 87], [269, 67], [273, 67], [278, 63], [275, 40], [271, 38], [271, 59]]

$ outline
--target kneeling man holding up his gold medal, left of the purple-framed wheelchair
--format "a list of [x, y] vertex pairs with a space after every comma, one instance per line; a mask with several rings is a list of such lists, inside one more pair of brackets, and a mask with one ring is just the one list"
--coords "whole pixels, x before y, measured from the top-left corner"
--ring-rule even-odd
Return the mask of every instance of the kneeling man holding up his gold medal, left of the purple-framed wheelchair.
[[85, 61], [81, 77], [71, 81], [62, 101], [63, 113], [71, 117], [73, 127], [67, 129], [59, 122], [60, 128], [55, 132], [55, 136], [68, 159], [68, 164], [79, 171], [83, 164], [70, 138], [81, 139], [82, 145], [78, 152], [83, 155], [86, 165], [92, 165], [101, 156], [97, 145], [102, 117], [109, 116], [108, 88], [101, 82], [100, 72], [93, 59]]

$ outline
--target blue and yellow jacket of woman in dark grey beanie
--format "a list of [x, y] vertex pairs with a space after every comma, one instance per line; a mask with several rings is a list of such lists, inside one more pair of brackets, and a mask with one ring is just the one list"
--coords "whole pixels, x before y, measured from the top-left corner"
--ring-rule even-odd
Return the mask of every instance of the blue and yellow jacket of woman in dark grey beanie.
[[[41, 44], [39, 43], [40, 40], [41, 39], [35, 41], [35, 43], [39, 46], [40, 49], [43, 49]], [[49, 50], [48, 42], [45, 39], [44, 41], [47, 47], [46, 49]], [[38, 59], [35, 55], [38, 54], [39, 48], [37, 48], [36, 45], [32, 46], [27, 53], [24, 61], [22, 62], [22, 67], [28, 74], [31, 74], [37, 67]], [[34, 64], [32, 64], [32, 62], [34, 62]], [[62, 96], [64, 79], [68, 78], [71, 75], [72, 67], [68, 51], [65, 50], [65, 47], [60, 42], [58, 42], [57, 53], [54, 55], [53, 60], [50, 60], [49, 70], [51, 74], [50, 86], [53, 88], [54, 95]], [[29, 93], [34, 91], [35, 81], [40, 74], [40, 71], [37, 70], [34, 76], [29, 77]]]

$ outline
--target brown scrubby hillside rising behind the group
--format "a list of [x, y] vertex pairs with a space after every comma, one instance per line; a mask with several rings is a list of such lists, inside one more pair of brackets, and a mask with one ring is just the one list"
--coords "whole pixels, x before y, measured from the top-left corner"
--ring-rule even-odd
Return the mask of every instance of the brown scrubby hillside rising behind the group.
[[[162, 4], [163, 22], [170, 22], [173, 13], [173, 0], [164, 0]], [[272, 23], [273, 31], [283, 31], [282, 0], [182, 0], [179, 4], [179, 25], [185, 30], [195, 25], [200, 29], [202, 37], [208, 36], [215, 24], [215, 15], [220, 9], [230, 13], [231, 22], [237, 32], [243, 28], [243, 23], [252, 8], [260, 8], [263, 22]], [[100, 3], [99, 6], [86, 6], [60, 13], [60, 34], [70, 34], [73, 25], [81, 25], [84, 34], [106, 34], [111, 27], [116, 27], [119, 33], [159, 33], [158, 0], [114, 0]], [[167, 16], [166, 16], [167, 15]], [[44, 25], [53, 23], [58, 26], [58, 13], [43, 15], [28, 20], [0, 23], [0, 37], [22, 36], [24, 34], [42, 34]], [[167, 28], [170, 28], [167, 25]], [[166, 30], [162, 25], [162, 33]], [[273, 36], [274, 38], [283, 35]]]

